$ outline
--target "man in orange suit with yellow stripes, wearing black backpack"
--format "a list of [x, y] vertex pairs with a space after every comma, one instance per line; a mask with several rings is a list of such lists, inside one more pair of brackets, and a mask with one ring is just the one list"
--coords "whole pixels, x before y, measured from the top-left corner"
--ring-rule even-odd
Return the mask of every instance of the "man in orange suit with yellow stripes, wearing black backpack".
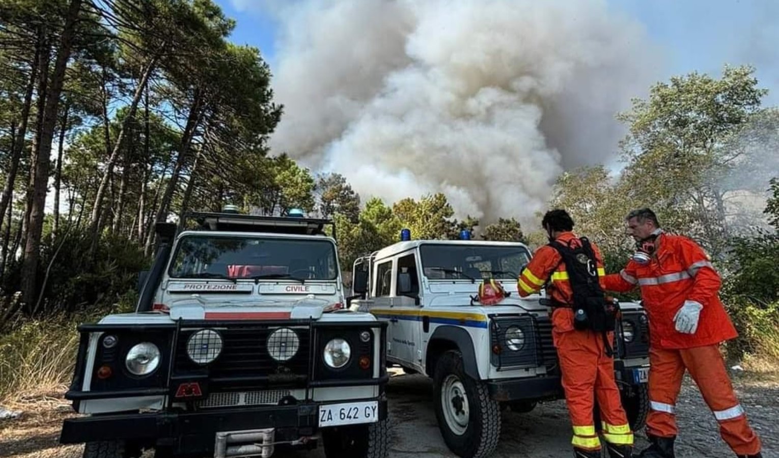
[[[547, 292], [556, 305], [552, 312], [552, 336], [562, 369], [562, 387], [566, 393], [571, 423], [573, 424], [574, 456], [590, 458], [601, 456], [601, 439], [595, 431], [594, 398], [601, 410], [602, 434], [609, 456], [633, 456], [633, 432], [630, 430], [619, 389], [614, 379], [614, 361], [608, 355], [608, 342], [613, 332], [597, 333], [590, 329], [576, 329], [571, 278], [563, 252], [557, 243], [569, 248], [590, 246], [590, 274], [600, 289], [604, 272], [597, 246], [586, 238], [573, 234], [573, 220], [565, 210], [546, 213], [541, 225], [547, 231], [550, 244], [538, 248], [530, 263], [520, 273], [518, 291], [521, 297], [538, 292], [551, 279]], [[581, 254], [577, 259], [583, 259]], [[578, 291], [578, 290], [577, 290]], [[604, 305], [601, 298], [601, 307]], [[578, 311], [577, 311], [578, 312]]]

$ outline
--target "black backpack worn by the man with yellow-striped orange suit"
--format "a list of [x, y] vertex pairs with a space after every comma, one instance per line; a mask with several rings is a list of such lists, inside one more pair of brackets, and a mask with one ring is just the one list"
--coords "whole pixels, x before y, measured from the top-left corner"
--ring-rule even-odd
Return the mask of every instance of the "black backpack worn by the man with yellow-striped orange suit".
[[590, 241], [580, 238], [581, 246], [571, 248], [559, 241], [548, 245], [555, 248], [566, 263], [568, 281], [573, 291], [573, 326], [608, 333], [615, 329], [615, 314], [608, 310], [606, 298], [597, 278], [597, 259]]

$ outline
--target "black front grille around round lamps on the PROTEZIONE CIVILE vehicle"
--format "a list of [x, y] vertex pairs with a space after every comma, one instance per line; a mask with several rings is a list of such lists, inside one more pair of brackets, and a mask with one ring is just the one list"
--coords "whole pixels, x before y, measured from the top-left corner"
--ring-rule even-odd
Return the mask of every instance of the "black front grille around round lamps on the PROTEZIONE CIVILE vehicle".
[[[220, 333], [223, 343], [216, 361], [206, 365], [196, 364], [187, 354], [189, 337], [199, 329], [181, 330], [175, 351], [174, 375], [202, 374], [205, 371], [213, 385], [212, 389], [219, 389], [220, 386], [229, 386], [231, 389], [305, 386], [311, 340], [307, 326], [288, 328], [298, 336], [298, 351], [286, 361], [276, 361], [268, 351], [268, 338], [278, 326], [209, 328]], [[284, 358], [288, 357], [284, 351], [280, 353]]]

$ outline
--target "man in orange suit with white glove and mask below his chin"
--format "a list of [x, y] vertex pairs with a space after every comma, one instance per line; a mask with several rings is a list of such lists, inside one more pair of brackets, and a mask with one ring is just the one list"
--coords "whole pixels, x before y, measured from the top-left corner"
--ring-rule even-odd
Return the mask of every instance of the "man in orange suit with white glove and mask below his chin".
[[649, 317], [650, 446], [640, 456], [674, 456], [675, 403], [687, 370], [714, 412], [722, 439], [737, 456], [761, 458], [760, 439], [718, 351], [719, 343], [737, 333], [717, 296], [721, 280], [714, 266], [694, 241], [664, 233], [652, 210], [634, 210], [626, 221], [638, 250], [625, 269], [604, 278], [604, 287], [630, 291], [638, 285]]

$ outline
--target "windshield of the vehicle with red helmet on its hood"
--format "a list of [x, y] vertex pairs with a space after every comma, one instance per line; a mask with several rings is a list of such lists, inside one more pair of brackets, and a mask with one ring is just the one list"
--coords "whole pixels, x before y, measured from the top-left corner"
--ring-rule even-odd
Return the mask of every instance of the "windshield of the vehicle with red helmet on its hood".
[[530, 262], [521, 246], [421, 245], [422, 270], [428, 280], [516, 280]]

